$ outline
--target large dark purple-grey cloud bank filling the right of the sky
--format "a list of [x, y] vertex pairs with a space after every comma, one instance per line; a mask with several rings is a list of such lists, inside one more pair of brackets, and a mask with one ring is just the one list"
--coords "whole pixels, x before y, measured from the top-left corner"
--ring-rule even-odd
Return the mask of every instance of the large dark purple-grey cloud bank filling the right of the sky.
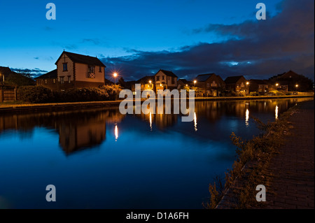
[[281, 12], [267, 20], [209, 24], [192, 30], [224, 36], [227, 40], [220, 43], [187, 45], [175, 52], [128, 50], [132, 55], [102, 61], [110, 70], [120, 67], [126, 76], [136, 78], [159, 69], [172, 70], [180, 78], [212, 72], [223, 78], [269, 78], [292, 69], [314, 79], [314, 1], [286, 0], [279, 7]]

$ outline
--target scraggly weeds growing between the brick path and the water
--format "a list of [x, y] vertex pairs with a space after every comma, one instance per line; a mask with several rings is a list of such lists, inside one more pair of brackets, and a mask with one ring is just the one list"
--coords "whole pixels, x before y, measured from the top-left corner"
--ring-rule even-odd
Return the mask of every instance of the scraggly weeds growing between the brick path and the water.
[[225, 183], [216, 177], [209, 185], [210, 199], [203, 203], [204, 208], [264, 208], [265, 203], [255, 199], [258, 193], [255, 189], [257, 185], [268, 187], [272, 182], [273, 176], [268, 175], [265, 170], [272, 157], [279, 154], [279, 149], [286, 142], [285, 137], [291, 135], [290, 129], [293, 129], [293, 125], [288, 120], [297, 109], [297, 106], [293, 106], [279, 115], [278, 120], [267, 124], [253, 118], [263, 134], [251, 140], [243, 141], [232, 132], [230, 138], [237, 147], [237, 159], [232, 169], [225, 172]]

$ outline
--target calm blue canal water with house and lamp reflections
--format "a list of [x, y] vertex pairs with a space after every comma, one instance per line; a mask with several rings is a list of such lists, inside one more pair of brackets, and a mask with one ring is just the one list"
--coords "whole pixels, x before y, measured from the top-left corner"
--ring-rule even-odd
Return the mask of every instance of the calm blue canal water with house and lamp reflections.
[[231, 133], [251, 139], [252, 117], [305, 100], [197, 101], [193, 122], [118, 108], [1, 115], [0, 208], [202, 208], [235, 160]]

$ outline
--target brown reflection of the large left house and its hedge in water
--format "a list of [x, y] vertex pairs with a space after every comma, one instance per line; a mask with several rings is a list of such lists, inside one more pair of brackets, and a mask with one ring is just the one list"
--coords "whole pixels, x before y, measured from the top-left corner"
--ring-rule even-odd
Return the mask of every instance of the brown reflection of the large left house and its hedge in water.
[[64, 153], [71, 154], [95, 148], [106, 141], [106, 124], [121, 122], [123, 117], [113, 109], [3, 115], [0, 117], [0, 134], [15, 130], [22, 138], [31, 138], [35, 127], [53, 129], [59, 134], [59, 145]]

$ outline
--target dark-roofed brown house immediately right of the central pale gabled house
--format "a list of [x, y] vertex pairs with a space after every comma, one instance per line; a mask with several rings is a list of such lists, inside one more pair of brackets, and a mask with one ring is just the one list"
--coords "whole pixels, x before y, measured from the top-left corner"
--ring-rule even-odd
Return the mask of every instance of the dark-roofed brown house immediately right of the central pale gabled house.
[[197, 75], [196, 87], [200, 87], [205, 96], [219, 96], [225, 87], [225, 82], [215, 73]]

